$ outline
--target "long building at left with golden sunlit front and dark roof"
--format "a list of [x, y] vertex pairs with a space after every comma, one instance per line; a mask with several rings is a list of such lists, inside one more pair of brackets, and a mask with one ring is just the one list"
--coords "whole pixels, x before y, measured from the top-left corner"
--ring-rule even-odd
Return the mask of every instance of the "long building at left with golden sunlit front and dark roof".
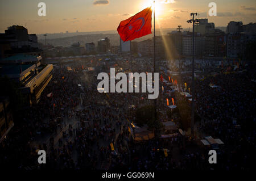
[[52, 78], [53, 65], [42, 65], [41, 56], [16, 54], [0, 60], [1, 77], [9, 77], [22, 85], [20, 91], [27, 95], [28, 103], [37, 103], [44, 88]]

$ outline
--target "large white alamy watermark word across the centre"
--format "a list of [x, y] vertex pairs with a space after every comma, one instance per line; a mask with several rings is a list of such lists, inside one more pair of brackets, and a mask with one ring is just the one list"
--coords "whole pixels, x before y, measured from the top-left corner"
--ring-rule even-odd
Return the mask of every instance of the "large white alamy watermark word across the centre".
[[[103, 78], [103, 79], [102, 79]], [[97, 90], [100, 93], [109, 92], [109, 75], [107, 73], [98, 74], [97, 79], [101, 79], [98, 83]], [[120, 80], [115, 85], [115, 80]], [[135, 79], [135, 81], [134, 81]], [[152, 73], [129, 73], [129, 80], [125, 73], [117, 73], [115, 69], [110, 69], [110, 92], [139, 92], [141, 79], [141, 91], [148, 92], [148, 99], [156, 99], [159, 95], [159, 73], [154, 73], [154, 81], [152, 81]], [[128, 91], [127, 91], [128, 82]], [[154, 82], [154, 83], [153, 83]], [[154, 84], [154, 86], [153, 86]], [[104, 86], [104, 88], [102, 87]], [[152, 94], [151, 94], [152, 93]]]

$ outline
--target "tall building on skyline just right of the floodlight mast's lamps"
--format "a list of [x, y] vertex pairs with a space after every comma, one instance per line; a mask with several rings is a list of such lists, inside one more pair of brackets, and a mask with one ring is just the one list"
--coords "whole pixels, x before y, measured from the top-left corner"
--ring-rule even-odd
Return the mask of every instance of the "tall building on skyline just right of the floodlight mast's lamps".
[[201, 35], [214, 32], [214, 23], [208, 23], [208, 19], [199, 19], [199, 23], [195, 24], [195, 32]]

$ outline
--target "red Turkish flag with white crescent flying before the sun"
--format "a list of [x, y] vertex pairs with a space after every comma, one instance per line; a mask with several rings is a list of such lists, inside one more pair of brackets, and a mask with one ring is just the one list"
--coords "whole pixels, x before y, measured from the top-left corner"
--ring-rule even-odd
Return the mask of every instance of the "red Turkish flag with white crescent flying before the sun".
[[129, 19], [120, 22], [117, 31], [123, 41], [134, 40], [152, 33], [151, 19], [152, 9], [151, 7], [147, 7]]

